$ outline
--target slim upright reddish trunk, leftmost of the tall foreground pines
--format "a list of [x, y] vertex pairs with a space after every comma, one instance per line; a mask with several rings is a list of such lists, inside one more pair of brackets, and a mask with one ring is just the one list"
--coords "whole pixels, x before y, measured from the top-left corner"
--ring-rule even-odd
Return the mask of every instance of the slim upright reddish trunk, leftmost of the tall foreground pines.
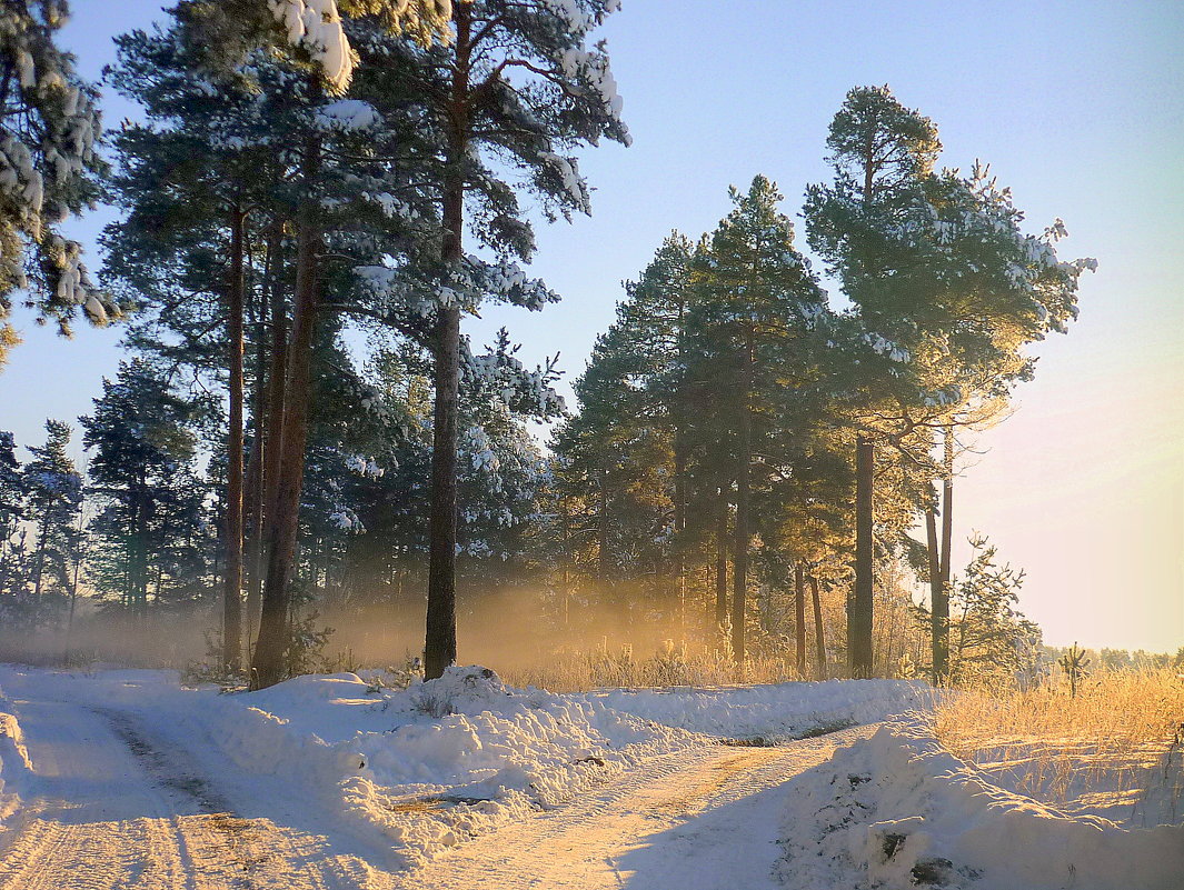
[[226, 437], [226, 572], [223, 576], [223, 664], [242, 665], [243, 639], [243, 225], [231, 209], [226, 340], [230, 352], [230, 428]]

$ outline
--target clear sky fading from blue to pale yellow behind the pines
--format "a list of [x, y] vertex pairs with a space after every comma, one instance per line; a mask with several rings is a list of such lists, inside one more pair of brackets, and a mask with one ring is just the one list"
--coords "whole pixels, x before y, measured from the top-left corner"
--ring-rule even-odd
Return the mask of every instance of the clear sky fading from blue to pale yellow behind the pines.
[[[73, 0], [63, 40], [98, 77], [111, 38], [160, 6]], [[728, 186], [758, 173], [796, 218], [806, 185], [828, 179], [847, 90], [889, 84], [938, 124], [940, 163], [989, 162], [1031, 232], [1061, 218], [1062, 258], [1099, 260], [1080, 321], [1038, 346], [1015, 413], [979, 437], [955, 483], [955, 537], [982, 531], [1027, 570], [1021, 607], [1051, 644], [1184, 646], [1184, 4], [625, 0], [601, 33], [633, 146], [585, 151], [591, 218], [540, 227], [532, 271], [564, 302], [491, 310], [466, 323], [474, 340], [506, 324], [526, 360], [559, 352], [570, 392], [620, 282], [670, 230], [712, 230]], [[104, 92], [108, 125], [137, 116]], [[112, 218], [72, 231], [91, 240]], [[0, 428], [37, 443], [46, 417], [89, 411], [121, 334], [66, 342], [15, 322]], [[967, 560], [963, 544], [954, 566]]]

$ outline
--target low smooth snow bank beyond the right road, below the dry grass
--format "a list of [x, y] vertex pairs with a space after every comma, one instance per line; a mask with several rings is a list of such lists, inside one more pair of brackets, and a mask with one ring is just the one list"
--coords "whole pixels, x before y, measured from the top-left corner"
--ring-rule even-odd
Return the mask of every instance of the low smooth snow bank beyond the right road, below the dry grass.
[[920, 707], [929, 696], [925, 683], [832, 679], [731, 689], [611, 689], [584, 698], [693, 733], [777, 742], [877, 723]]

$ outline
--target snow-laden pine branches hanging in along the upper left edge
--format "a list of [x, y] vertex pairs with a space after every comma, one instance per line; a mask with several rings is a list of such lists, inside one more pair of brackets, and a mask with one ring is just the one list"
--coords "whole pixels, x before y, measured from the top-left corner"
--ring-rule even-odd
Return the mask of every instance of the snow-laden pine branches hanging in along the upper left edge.
[[0, 6], [0, 365], [17, 342], [6, 323], [15, 291], [66, 336], [79, 310], [92, 324], [120, 314], [57, 228], [98, 199], [105, 170], [98, 91], [54, 44], [67, 17], [65, 0]]

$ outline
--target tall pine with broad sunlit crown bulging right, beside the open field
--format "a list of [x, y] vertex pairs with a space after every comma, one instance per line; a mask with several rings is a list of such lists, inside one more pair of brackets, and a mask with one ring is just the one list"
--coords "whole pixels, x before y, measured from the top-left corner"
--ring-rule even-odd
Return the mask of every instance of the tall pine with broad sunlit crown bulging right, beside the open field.
[[[946, 462], [928, 456], [937, 431], [982, 415], [990, 400], [1030, 374], [1019, 349], [1064, 329], [1076, 312], [1077, 277], [1093, 263], [1056, 260], [1051, 244], [1060, 224], [1040, 238], [1022, 234], [1022, 214], [984, 168], [976, 166], [969, 179], [935, 172], [937, 127], [887, 86], [848, 93], [828, 147], [836, 178], [807, 189], [805, 215], [811, 246], [855, 307], [836, 330], [835, 356], [848, 362], [860, 439], [848, 636], [851, 671], [867, 676], [876, 445], [905, 450], [918, 466], [928, 463], [931, 476], [948, 478], [940, 469]], [[932, 490], [921, 503], [933, 505]], [[931, 579], [944, 572], [931, 567]], [[940, 664], [940, 591], [935, 602]]]

